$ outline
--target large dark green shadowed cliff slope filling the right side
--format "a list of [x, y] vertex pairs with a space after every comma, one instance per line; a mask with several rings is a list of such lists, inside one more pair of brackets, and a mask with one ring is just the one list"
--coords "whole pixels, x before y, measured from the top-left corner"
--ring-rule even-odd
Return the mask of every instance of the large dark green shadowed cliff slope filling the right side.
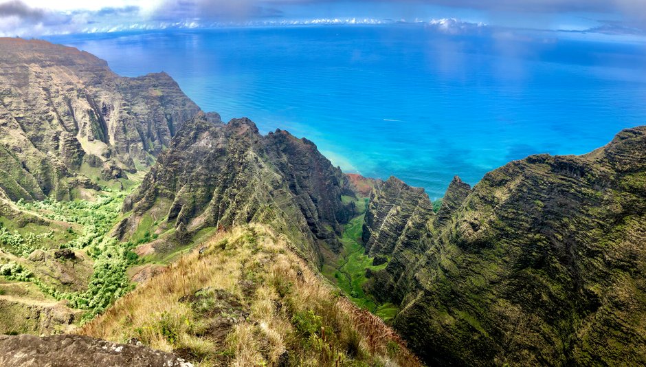
[[392, 259], [369, 288], [428, 363], [646, 364], [646, 126], [454, 181], [414, 226], [423, 199], [407, 195], [373, 193], [364, 241]]

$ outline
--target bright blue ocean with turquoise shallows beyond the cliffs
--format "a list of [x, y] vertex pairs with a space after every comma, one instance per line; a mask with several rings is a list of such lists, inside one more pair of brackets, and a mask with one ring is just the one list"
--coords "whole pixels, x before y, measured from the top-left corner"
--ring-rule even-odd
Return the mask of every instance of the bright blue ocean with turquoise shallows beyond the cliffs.
[[646, 124], [646, 43], [421, 25], [83, 34], [124, 76], [166, 71], [205, 111], [313, 140], [346, 172], [442, 197], [452, 177], [534, 153], [581, 154]]

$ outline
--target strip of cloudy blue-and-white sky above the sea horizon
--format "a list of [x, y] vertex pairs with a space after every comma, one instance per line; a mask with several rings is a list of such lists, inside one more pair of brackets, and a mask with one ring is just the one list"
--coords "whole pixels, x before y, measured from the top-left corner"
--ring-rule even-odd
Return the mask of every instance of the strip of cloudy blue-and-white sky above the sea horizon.
[[23, 37], [438, 19], [496, 27], [646, 34], [646, 0], [0, 0], [0, 36]]

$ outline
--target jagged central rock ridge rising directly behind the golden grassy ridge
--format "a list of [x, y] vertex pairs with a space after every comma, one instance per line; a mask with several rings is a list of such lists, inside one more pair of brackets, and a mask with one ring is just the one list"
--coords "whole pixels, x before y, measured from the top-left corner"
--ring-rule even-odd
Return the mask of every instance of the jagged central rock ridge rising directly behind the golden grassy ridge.
[[126, 199], [133, 215], [122, 223], [127, 236], [142, 218], [163, 219], [177, 241], [207, 227], [267, 223], [318, 258], [318, 243], [337, 246], [348, 181], [316, 146], [285, 131], [263, 136], [247, 119], [223, 124], [203, 113], [187, 122]]

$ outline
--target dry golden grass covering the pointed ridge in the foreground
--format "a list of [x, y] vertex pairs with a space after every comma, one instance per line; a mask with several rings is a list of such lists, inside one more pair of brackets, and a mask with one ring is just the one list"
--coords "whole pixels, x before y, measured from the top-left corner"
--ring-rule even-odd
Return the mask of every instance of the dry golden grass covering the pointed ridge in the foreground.
[[135, 337], [200, 366], [419, 366], [377, 316], [357, 309], [262, 225], [186, 254], [77, 332]]

